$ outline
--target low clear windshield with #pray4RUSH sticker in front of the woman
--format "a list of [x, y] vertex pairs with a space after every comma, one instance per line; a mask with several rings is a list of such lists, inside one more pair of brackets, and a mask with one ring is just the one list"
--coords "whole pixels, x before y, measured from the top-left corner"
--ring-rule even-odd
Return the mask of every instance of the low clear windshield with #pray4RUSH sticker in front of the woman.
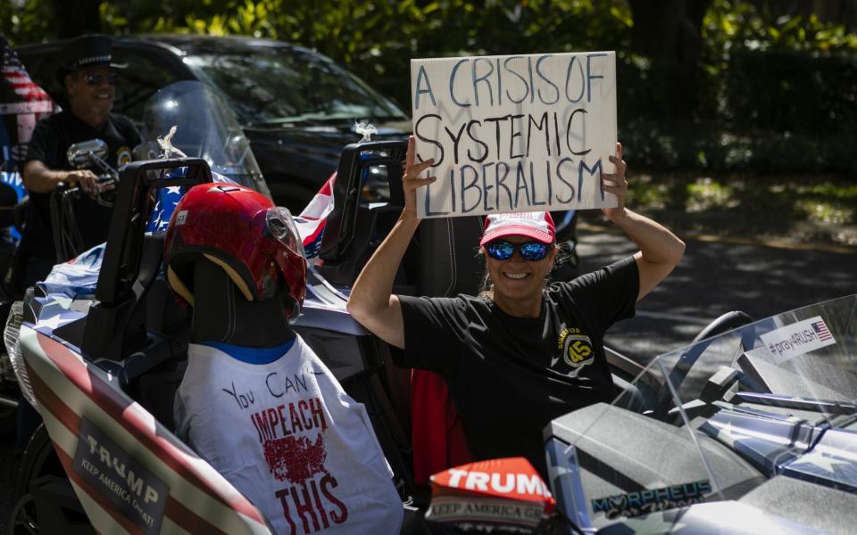
[[670, 351], [612, 405], [554, 420], [548, 458], [569, 474], [554, 491], [570, 518], [595, 529], [740, 501], [773, 477], [853, 488], [841, 467], [857, 458], [855, 398], [852, 295]]

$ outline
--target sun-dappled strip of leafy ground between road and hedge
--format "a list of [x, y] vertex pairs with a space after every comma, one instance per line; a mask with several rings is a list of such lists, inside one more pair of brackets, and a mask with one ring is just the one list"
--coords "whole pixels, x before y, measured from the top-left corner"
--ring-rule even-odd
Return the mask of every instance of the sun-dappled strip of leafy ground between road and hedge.
[[852, 176], [637, 169], [628, 186], [629, 207], [682, 237], [857, 252]]

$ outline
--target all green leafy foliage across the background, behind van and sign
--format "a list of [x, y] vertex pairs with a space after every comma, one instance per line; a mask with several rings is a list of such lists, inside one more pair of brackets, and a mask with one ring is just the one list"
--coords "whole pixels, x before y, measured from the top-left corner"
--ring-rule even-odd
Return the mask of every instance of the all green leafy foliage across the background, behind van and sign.
[[[90, 0], [97, 2], [98, 0]], [[0, 0], [13, 44], [56, 37], [54, 3]], [[115, 0], [105, 33], [247, 35], [308, 46], [409, 107], [409, 60], [464, 54], [616, 50], [620, 138], [653, 168], [843, 171], [857, 167], [857, 36], [771, 2], [712, 0], [695, 107], [670, 102], [653, 58], [632, 52], [623, 0]], [[660, 87], [660, 89], [659, 89]]]

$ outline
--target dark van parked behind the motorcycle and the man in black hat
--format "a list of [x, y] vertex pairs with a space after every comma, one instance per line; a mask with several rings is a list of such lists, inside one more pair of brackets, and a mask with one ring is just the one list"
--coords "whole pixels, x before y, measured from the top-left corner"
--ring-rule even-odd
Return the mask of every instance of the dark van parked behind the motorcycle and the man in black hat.
[[[61, 106], [54, 77], [65, 42], [18, 48], [30, 77]], [[198, 79], [236, 112], [274, 202], [300, 213], [337, 169], [346, 144], [370, 120], [373, 140], [404, 139], [410, 119], [360, 78], [312, 50], [268, 39], [211, 36], [114, 37], [117, 62], [127, 63], [114, 112], [142, 120], [143, 104], [172, 82]]]

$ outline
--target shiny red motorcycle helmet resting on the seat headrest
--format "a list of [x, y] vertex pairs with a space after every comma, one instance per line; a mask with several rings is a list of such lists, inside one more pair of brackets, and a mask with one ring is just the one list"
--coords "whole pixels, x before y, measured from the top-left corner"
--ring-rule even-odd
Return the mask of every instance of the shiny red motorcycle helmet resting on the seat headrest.
[[296, 317], [306, 293], [304, 246], [287, 209], [248, 187], [195, 185], [172, 212], [164, 243], [167, 282], [193, 306], [193, 263], [202, 256], [223, 268], [246, 300], [266, 300], [279, 279]]

